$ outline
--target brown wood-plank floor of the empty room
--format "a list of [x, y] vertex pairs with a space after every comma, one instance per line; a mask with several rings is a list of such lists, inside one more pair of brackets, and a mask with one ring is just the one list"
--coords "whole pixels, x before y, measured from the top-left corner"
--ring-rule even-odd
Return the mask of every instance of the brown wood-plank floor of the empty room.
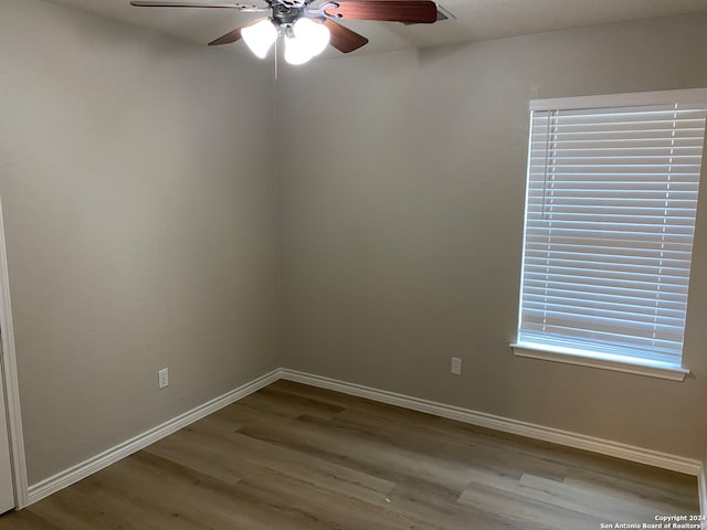
[[694, 477], [278, 381], [0, 530], [598, 530], [698, 511]]

